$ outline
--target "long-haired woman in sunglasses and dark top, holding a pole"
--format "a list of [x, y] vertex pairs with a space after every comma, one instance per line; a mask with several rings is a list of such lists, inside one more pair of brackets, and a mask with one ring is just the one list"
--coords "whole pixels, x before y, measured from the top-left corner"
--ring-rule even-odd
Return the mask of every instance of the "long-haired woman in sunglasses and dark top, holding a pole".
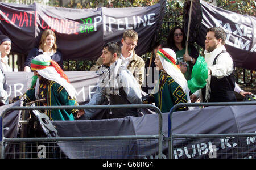
[[168, 47], [175, 51], [177, 63], [180, 65], [180, 71], [187, 80], [191, 79], [193, 65], [199, 56], [193, 45], [188, 46], [188, 54], [185, 54], [185, 32], [181, 27], [174, 27], [168, 35]]

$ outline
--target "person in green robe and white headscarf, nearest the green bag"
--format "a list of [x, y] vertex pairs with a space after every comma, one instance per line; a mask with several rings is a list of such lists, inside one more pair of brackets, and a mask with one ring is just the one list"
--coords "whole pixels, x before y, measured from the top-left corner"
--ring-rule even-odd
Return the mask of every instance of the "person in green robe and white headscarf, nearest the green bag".
[[[179, 103], [190, 102], [187, 80], [176, 65], [177, 59], [174, 50], [169, 48], [159, 49], [156, 58], [156, 68], [162, 70], [159, 75], [155, 94], [142, 97], [143, 104], [155, 103], [162, 113], [170, 112], [170, 109]], [[177, 111], [186, 108], [178, 108]]]

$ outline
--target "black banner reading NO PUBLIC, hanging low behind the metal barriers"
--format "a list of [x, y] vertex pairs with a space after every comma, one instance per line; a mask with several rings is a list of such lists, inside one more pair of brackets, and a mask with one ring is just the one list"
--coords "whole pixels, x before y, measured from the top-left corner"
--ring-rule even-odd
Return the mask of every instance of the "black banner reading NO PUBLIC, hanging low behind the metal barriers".
[[[255, 133], [255, 106], [207, 107], [174, 112], [175, 134]], [[168, 137], [168, 113], [163, 113], [163, 135]], [[158, 134], [158, 114], [111, 120], [52, 121], [60, 137], [98, 137]], [[86, 130], [84, 130], [86, 129]], [[175, 159], [255, 158], [256, 137], [174, 138]], [[158, 158], [158, 142], [151, 140], [93, 140], [58, 142], [68, 158]], [[168, 158], [168, 142], [163, 142]]]

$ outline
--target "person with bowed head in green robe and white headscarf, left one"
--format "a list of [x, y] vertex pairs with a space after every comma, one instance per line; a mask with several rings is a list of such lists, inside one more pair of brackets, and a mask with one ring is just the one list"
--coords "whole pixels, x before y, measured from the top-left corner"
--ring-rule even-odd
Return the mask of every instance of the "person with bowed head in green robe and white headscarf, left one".
[[[67, 75], [60, 66], [47, 55], [39, 55], [32, 59], [31, 70], [37, 71], [42, 79], [34, 76], [31, 88], [26, 92], [27, 101], [45, 99], [37, 102], [37, 106], [53, 105], [78, 105], [75, 96], [75, 88], [69, 83]], [[74, 120], [78, 112], [71, 110], [48, 110], [47, 116], [50, 120]]]

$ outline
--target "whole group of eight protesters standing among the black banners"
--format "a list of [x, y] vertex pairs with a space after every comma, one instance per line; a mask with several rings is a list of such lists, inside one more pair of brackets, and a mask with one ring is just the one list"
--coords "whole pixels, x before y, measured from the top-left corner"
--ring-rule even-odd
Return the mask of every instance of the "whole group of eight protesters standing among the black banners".
[[[236, 84], [234, 63], [225, 49], [226, 33], [222, 28], [207, 29], [205, 35], [205, 62], [208, 66], [207, 84], [203, 89], [191, 93], [187, 81], [199, 57], [195, 46], [186, 48], [183, 28], [171, 29], [167, 41], [156, 41], [152, 46], [150, 59], [144, 62], [134, 48], [139, 36], [134, 30], [123, 32], [119, 42], [108, 42], [102, 48], [91, 71], [99, 75], [96, 93], [86, 105], [101, 104], [150, 104], [155, 103], [161, 112], [169, 112], [179, 103], [229, 102], [236, 101], [234, 91], [243, 97], [251, 95]], [[14, 100], [6, 92], [5, 72], [11, 71], [7, 55], [11, 50], [11, 40], [0, 35], [0, 104], [7, 105]], [[75, 88], [69, 82], [63, 69], [63, 58], [57, 50], [55, 33], [49, 29], [42, 33], [38, 48], [28, 53], [24, 71], [34, 71], [31, 87], [26, 91], [27, 101], [36, 105], [78, 105]], [[145, 73], [144, 73], [145, 71]], [[146, 75], [146, 76], [144, 76]], [[157, 76], [155, 76], [157, 75]], [[144, 77], [146, 80], [144, 80]], [[149, 83], [150, 82], [150, 86]], [[142, 91], [148, 95], [142, 96]], [[41, 100], [40, 100], [41, 99]], [[43, 99], [43, 100], [42, 100]], [[190, 108], [178, 108], [178, 111]], [[50, 110], [45, 112], [51, 120], [90, 120], [96, 114], [93, 109]], [[104, 118], [139, 116], [138, 109], [109, 109]]]

